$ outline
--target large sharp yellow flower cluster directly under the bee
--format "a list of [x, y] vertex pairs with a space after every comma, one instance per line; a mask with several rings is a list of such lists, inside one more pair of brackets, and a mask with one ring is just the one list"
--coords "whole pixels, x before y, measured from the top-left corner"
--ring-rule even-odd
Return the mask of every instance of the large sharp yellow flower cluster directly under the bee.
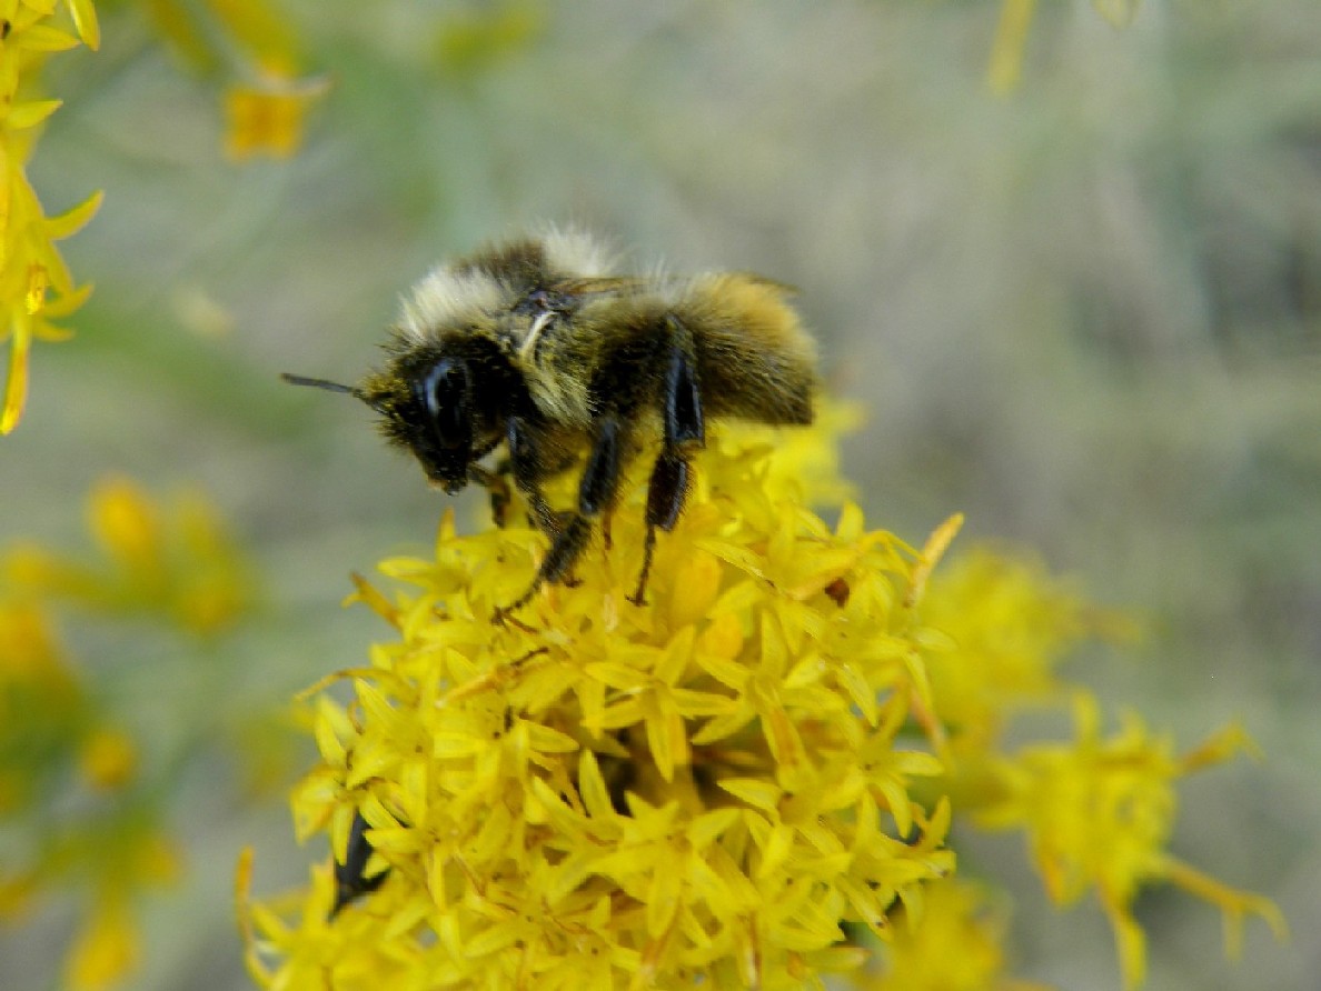
[[954, 868], [948, 805], [909, 792], [943, 769], [906, 728], [915, 554], [853, 505], [826, 525], [773, 466], [804, 455], [738, 438], [699, 459], [645, 607], [641, 486], [609, 552], [505, 627], [540, 533], [446, 513], [435, 559], [383, 562], [413, 591], [363, 598], [400, 639], [349, 707], [318, 699], [293, 810], [341, 862], [361, 815], [363, 878], [390, 874], [333, 920], [328, 867], [246, 908], [263, 983], [799, 987], [865, 958], [841, 922], [884, 938]]

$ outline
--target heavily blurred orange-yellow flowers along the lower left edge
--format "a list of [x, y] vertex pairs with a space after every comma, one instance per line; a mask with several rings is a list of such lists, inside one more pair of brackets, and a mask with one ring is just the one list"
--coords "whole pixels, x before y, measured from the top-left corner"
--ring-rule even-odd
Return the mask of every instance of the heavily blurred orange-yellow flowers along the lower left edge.
[[[18, 925], [45, 896], [71, 891], [81, 921], [63, 986], [92, 991], [140, 963], [135, 903], [180, 871], [162, 826], [160, 781], [147, 781], [140, 742], [85, 677], [55, 614], [164, 616], [206, 640], [251, 602], [238, 553], [196, 497], [173, 511], [129, 482], [90, 500], [104, 561], [89, 565], [34, 545], [0, 554], [0, 924]], [[103, 670], [99, 682], [104, 684]]]

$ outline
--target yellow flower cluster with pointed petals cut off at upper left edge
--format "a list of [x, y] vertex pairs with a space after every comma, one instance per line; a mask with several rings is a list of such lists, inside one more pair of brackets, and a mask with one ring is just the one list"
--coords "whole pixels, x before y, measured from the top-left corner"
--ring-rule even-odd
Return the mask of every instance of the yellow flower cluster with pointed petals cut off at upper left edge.
[[91, 219], [100, 194], [48, 218], [25, 170], [41, 123], [59, 108], [59, 100], [33, 94], [36, 78], [52, 53], [79, 42], [100, 44], [91, 0], [0, 0], [0, 343], [9, 342], [0, 434], [22, 417], [32, 342], [63, 340], [67, 331], [52, 321], [91, 292], [74, 284], [54, 241]]

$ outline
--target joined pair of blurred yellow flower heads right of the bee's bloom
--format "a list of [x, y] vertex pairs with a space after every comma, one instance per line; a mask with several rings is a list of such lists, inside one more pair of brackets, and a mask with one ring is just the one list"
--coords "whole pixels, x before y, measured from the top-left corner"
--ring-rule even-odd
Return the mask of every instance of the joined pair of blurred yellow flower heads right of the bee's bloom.
[[[1219, 884], [1165, 850], [1177, 780], [1247, 748], [1246, 734], [1230, 727], [1177, 757], [1168, 739], [1129, 714], [1107, 738], [1092, 695], [1058, 677], [1071, 645], [1095, 635], [1128, 639], [1131, 624], [1090, 608], [1040, 565], [988, 550], [952, 561], [933, 581], [925, 619], [948, 637], [929, 658], [952, 757], [941, 792], [971, 825], [1021, 830], [1055, 904], [1095, 891], [1115, 932], [1125, 987], [1145, 975], [1145, 940], [1132, 905], [1151, 884], [1173, 883], [1221, 908], [1231, 955], [1246, 914], [1264, 918], [1283, 938], [1284, 921], [1268, 900]], [[1013, 718], [1033, 707], [1071, 709], [1077, 738], [1007, 750]]]

